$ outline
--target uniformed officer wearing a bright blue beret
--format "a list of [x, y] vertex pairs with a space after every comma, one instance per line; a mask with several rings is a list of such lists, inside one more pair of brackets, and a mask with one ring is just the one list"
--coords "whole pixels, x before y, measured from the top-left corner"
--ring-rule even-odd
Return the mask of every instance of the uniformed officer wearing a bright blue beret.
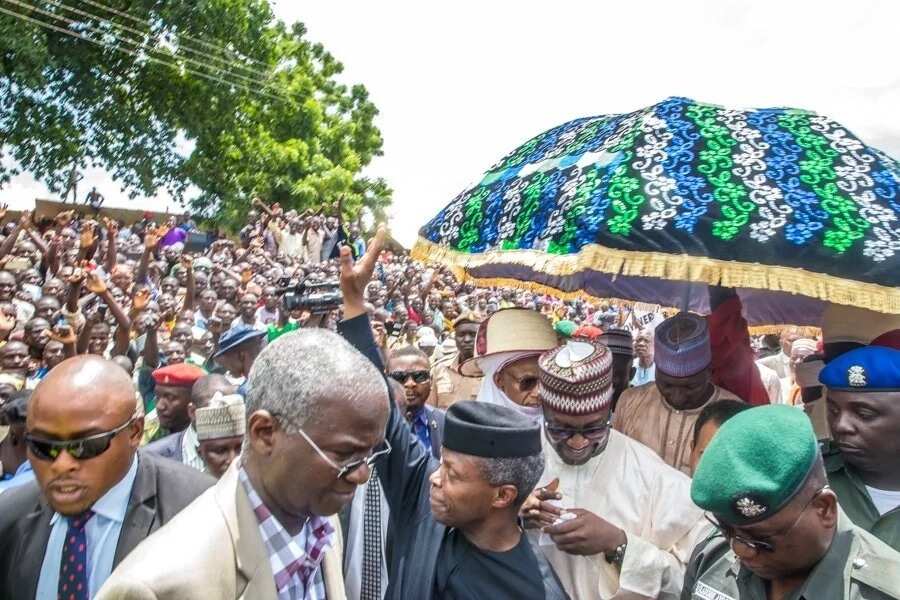
[[900, 551], [900, 350], [853, 350], [819, 381], [828, 388], [828, 482], [856, 525]]

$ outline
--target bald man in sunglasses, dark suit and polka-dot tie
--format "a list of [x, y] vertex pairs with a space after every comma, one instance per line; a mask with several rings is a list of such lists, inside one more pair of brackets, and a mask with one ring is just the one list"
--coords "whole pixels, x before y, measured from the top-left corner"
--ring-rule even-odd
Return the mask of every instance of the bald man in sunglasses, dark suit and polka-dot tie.
[[215, 481], [138, 456], [143, 416], [128, 375], [97, 356], [47, 375], [28, 406], [37, 481], [0, 496], [0, 599], [92, 597], [152, 531]]

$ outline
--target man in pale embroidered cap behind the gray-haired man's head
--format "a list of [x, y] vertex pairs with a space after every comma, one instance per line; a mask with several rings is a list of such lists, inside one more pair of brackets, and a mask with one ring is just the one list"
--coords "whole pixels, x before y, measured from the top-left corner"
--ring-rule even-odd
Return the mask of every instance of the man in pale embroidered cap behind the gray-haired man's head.
[[239, 394], [222, 395], [216, 392], [209, 405], [194, 413], [197, 452], [206, 463], [207, 471], [220, 479], [234, 459], [241, 454], [244, 443], [247, 408]]

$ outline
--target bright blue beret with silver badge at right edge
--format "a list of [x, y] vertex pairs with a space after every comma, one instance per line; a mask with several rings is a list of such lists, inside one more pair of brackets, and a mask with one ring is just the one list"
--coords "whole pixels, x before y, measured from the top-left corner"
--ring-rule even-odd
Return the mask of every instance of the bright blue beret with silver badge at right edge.
[[842, 354], [819, 373], [831, 390], [886, 392], [900, 390], [900, 350], [866, 346]]

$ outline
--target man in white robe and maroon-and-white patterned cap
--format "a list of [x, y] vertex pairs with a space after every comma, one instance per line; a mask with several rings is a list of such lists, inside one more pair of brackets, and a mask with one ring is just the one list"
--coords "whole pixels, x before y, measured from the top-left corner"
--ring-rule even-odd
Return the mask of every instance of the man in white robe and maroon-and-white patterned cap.
[[579, 600], [676, 598], [708, 530], [690, 479], [610, 428], [612, 356], [573, 340], [540, 358], [546, 465], [522, 514]]

